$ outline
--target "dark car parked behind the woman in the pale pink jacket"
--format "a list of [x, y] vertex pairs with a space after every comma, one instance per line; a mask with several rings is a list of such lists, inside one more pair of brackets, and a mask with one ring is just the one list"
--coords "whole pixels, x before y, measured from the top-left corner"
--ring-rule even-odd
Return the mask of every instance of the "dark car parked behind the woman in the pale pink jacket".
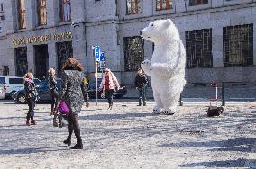
[[[99, 88], [100, 82], [98, 82], [97, 84], [98, 84], [97, 88]], [[96, 98], [96, 84], [91, 83], [89, 85], [89, 87], [87, 88], [87, 92], [88, 92], [89, 98]], [[101, 98], [101, 93], [102, 93], [102, 91], [99, 91], [97, 93], [98, 98]], [[123, 95], [125, 95], [126, 93], [127, 93], [127, 89], [124, 85], [122, 85], [118, 91], [114, 91], [113, 96], [117, 99], [121, 99], [123, 97]]]

